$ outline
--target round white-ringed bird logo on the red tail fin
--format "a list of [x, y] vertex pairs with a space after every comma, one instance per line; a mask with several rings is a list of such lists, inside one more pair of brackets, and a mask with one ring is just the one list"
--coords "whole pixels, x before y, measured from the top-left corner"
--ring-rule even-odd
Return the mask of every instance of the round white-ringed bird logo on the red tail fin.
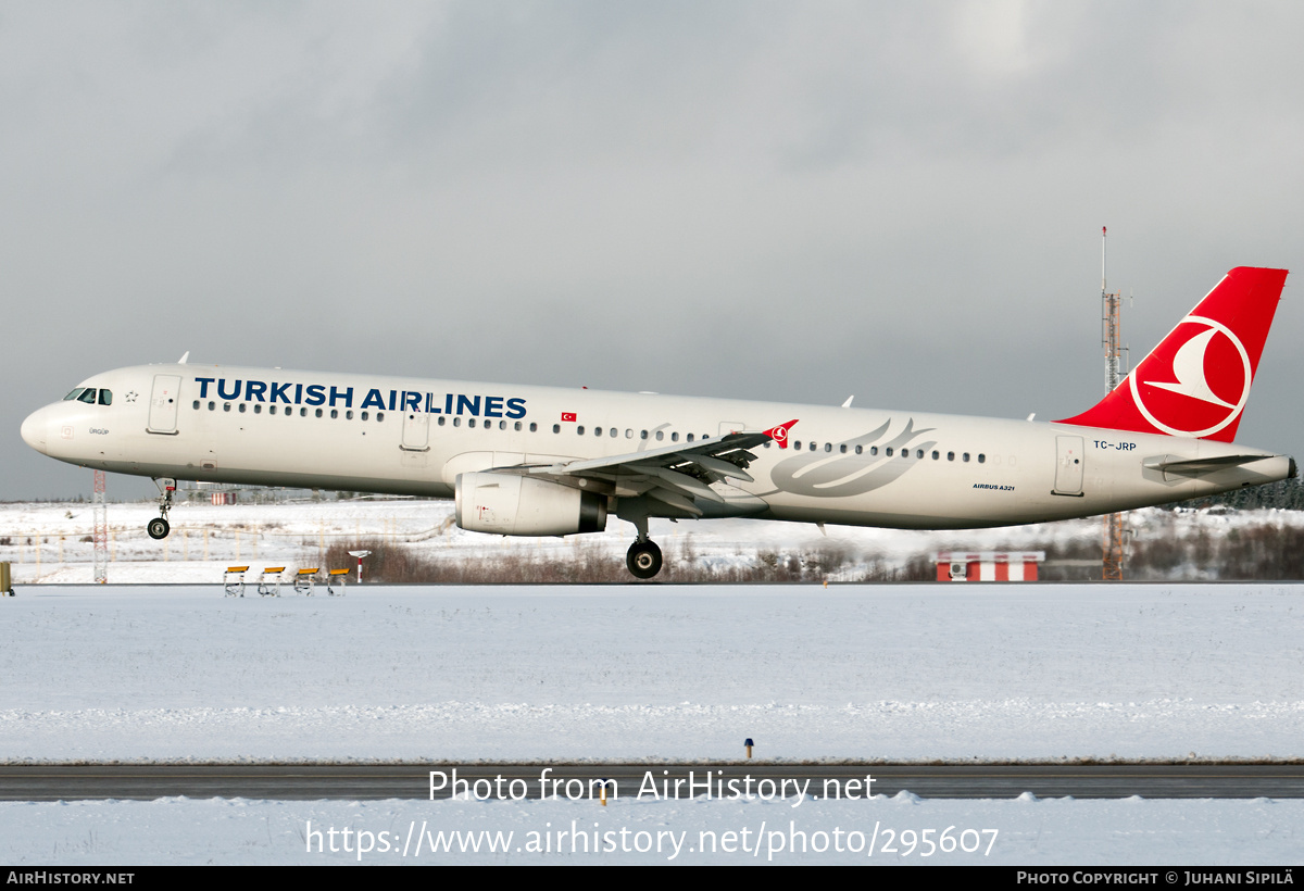
[[[1167, 350], [1167, 343], [1176, 339], [1170, 335], [1161, 350], [1146, 357], [1129, 382], [1137, 408], [1157, 429], [1171, 436], [1198, 438], [1217, 433], [1240, 417], [1249, 399], [1253, 370], [1245, 346], [1222, 322], [1187, 316], [1178, 329], [1184, 326], [1202, 330]], [[1164, 364], [1171, 368], [1168, 374], [1159, 370]]]

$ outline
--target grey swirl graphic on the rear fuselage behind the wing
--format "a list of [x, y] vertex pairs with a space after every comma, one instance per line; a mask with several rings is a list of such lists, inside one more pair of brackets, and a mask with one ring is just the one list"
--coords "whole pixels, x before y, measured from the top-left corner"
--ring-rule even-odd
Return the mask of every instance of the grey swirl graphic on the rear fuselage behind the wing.
[[[811, 451], [781, 461], [771, 472], [771, 480], [780, 491], [818, 498], [845, 498], [884, 487], [921, 461], [913, 455], [901, 457], [901, 449], [927, 451], [936, 445], [936, 440], [911, 442], [915, 437], [936, 429], [926, 427], [917, 430], [911, 417], [905, 423], [905, 429], [882, 444], [882, 454], [870, 455], [867, 449], [863, 454], [855, 454], [855, 446], [868, 446], [871, 442], [878, 442], [888, 433], [891, 425], [892, 421], [888, 420], [875, 430], [848, 440], [846, 454]], [[891, 458], [887, 455], [888, 449], [893, 451]]]

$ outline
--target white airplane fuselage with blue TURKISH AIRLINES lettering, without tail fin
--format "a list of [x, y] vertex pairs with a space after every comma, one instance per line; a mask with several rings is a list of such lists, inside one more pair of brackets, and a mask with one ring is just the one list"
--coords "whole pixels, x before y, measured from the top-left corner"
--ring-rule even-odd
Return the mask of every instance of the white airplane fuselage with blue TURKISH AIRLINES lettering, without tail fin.
[[[451, 497], [469, 471], [625, 455], [789, 419], [790, 447], [754, 449], [754, 481], [717, 483], [725, 500], [700, 502], [705, 517], [1008, 526], [1291, 472], [1290, 458], [1234, 444], [910, 411], [220, 365], [124, 368], [82, 386], [108, 390], [111, 404], [34, 412], [22, 428], [33, 447], [83, 467], [214, 483]], [[1198, 476], [1154, 468], [1222, 455], [1261, 459]]]

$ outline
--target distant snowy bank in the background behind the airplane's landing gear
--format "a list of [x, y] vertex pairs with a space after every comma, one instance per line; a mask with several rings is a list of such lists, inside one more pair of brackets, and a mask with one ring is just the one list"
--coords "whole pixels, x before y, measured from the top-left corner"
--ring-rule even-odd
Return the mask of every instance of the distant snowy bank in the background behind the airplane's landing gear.
[[[246, 497], [246, 493], [243, 493]], [[605, 535], [569, 539], [509, 539], [466, 532], [452, 522], [452, 502], [416, 500], [304, 501], [214, 506], [180, 502], [172, 509], [172, 534], [154, 541], [145, 524], [158, 515], [154, 504], [108, 505], [108, 581], [115, 584], [196, 583], [222, 578], [230, 565], [321, 566], [333, 544], [379, 541], [436, 561], [464, 562], [502, 557], [575, 561], [591, 554], [623, 573], [632, 527], [614, 517]], [[1158, 509], [1127, 515], [1131, 540], [1145, 547], [1157, 541], [1226, 537], [1254, 527], [1297, 527], [1304, 511]], [[83, 584], [94, 581], [94, 531], [90, 504], [0, 504], [0, 560], [13, 565], [20, 584]], [[857, 581], [872, 565], [900, 570], [911, 557], [935, 551], [1038, 551], [1076, 547], [1099, 554], [1099, 518], [995, 530], [918, 532], [828, 526], [823, 532], [807, 523], [748, 519], [672, 523], [653, 519], [651, 535], [668, 564], [687, 558], [708, 570], [756, 565], [758, 556], [802, 554], [832, 548], [845, 554], [845, 566], [829, 581]], [[344, 566], [330, 566], [343, 569]], [[1093, 570], [1078, 570], [1082, 577]], [[365, 573], [365, 567], [364, 567]], [[1214, 581], [1217, 570], [1187, 562], [1166, 578]], [[618, 575], [619, 577], [619, 575]], [[1074, 575], [1076, 577], [1076, 575]], [[352, 577], [351, 577], [352, 578]]]

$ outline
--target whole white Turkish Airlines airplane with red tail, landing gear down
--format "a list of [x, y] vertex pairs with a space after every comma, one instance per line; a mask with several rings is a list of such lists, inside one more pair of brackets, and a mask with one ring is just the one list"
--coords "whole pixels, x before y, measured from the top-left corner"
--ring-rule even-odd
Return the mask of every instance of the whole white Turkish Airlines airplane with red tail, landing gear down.
[[[1236, 445], [1287, 270], [1232, 269], [1098, 404], [1051, 423], [655, 393], [179, 363], [95, 374], [22, 438], [81, 467], [154, 477], [166, 537], [176, 480], [452, 497], [494, 535], [632, 523], [626, 566], [655, 577], [649, 518], [911, 530], [1114, 513], [1296, 476]], [[790, 420], [789, 420], [790, 419]]]

